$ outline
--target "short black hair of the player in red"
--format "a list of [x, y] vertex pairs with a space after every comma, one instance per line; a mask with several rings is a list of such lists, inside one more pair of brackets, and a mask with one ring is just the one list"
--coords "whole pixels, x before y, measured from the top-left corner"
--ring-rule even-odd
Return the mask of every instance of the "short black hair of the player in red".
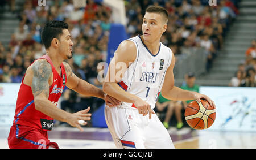
[[48, 21], [41, 32], [41, 39], [48, 49], [51, 46], [51, 42], [53, 38], [58, 38], [63, 34], [63, 29], [68, 29], [68, 24], [64, 21], [52, 20]]

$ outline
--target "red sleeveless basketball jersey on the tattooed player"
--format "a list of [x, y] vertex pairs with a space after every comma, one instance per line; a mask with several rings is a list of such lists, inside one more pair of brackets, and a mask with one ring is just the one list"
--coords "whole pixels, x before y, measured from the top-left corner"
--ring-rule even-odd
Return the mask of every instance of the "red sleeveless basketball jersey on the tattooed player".
[[[67, 82], [65, 67], [63, 63], [61, 63], [60, 76], [59, 73], [55, 70], [55, 67], [52, 64], [52, 60], [49, 58], [48, 55], [43, 55], [43, 57], [39, 59], [46, 59], [47, 62], [52, 66], [53, 83], [49, 88], [48, 100], [57, 106], [57, 102], [59, 101], [59, 98], [65, 87], [65, 83]], [[18, 92], [13, 123], [36, 129], [43, 129], [44, 131], [51, 131], [53, 126], [53, 119], [35, 109], [34, 96], [32, 94], [31, 87], [23, 83], [24, 77], [22, 79], [22, 83]]]

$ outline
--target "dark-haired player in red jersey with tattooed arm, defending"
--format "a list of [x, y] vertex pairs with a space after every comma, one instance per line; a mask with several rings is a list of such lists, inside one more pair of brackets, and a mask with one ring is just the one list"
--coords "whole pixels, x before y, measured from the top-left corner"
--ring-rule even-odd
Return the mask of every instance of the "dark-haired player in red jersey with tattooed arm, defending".
[[36, 59], [23, 77], [8, 137], [10, 148], [59, 148], [48, 140], [47, 131], [51, 131], [53, 119], [83, 131], [79, 120], [84, 120], [83, 125], [87, 124], [90, 107], [73, 114], [56, 107], [65, 85], [80, 94], [102, 98], [110, 106], [119, 105], [115, 98], [79, 79], [68, 63], [63, 62], [72, 58], [73, 42], [67, 23], [50, 21], [41, 36], [46, 55]]

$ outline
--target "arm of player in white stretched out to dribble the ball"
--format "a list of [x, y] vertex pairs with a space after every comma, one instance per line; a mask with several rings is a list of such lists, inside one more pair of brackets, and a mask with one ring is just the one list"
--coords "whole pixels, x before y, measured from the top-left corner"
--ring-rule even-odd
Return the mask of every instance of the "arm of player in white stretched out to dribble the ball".
[[187, 101], [187, 100], [196, 100], [200, 102], [200, 99], [207, 100], [211, 106], [215, 107], [214, 101], [211, 100], [208, 96], [200, 94], [197, 92], [192, 92], [188, 90], [181, 89], [174, 86], [174, 66], [175, 66], [175, 57], [172, 54], [172, 62], [170, 67], [167, 69], [166, 77], [164, 79], [164, 84], [162, 87], [162, 96], [168, 100], [175, 101]]

